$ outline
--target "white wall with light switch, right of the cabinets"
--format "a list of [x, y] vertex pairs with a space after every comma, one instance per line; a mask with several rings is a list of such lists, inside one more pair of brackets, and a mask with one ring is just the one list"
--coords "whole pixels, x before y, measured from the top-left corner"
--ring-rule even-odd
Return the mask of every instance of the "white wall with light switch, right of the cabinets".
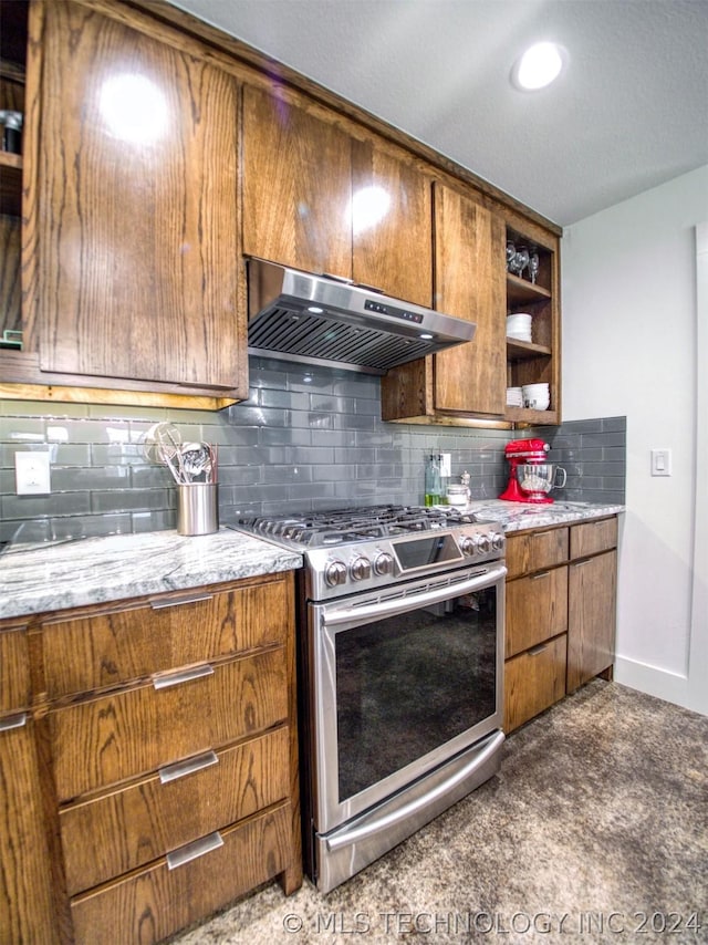
[[[708, 666], [690, 666], [689, 654], [691, 633], [695, 658], [708, 650], [708, 619], [691, 608], [696, 226], [706, 220], [708, 166], [581, 220], [562, 243], [563, 419], [627, 417], [615, 678], [700, 712], [689, 677], [705, 679]], [[656, 447], [673, 453], [668, 478], [649, 475]]]

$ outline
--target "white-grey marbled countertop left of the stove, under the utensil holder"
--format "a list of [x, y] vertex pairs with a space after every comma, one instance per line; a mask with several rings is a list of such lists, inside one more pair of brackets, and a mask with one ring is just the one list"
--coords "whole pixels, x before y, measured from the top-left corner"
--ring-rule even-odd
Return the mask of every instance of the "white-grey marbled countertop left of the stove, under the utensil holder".
[[0, 617], [23, 616], [302, 567], [302, 555], [230, 529], [17, 546], [0, 555]]

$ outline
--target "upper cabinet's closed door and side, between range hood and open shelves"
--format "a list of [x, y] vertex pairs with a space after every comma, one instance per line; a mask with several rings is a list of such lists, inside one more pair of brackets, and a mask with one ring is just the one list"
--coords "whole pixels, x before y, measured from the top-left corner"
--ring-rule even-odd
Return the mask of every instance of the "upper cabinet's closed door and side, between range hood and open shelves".
[[384, 419], [502, 419], [506, 404], [504, 222], [458, 190], [435, 187], [435, 308], [475, 322], [471, 342], [382, 380]]

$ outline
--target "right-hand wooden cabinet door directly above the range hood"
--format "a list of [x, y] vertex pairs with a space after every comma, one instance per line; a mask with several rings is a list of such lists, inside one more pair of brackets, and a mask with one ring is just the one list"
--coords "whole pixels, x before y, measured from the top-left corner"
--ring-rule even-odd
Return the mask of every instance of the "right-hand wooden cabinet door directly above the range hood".
[[430, 180], [415, 165], [352, 142], [353, 278], [396, 299], [433, 303]]

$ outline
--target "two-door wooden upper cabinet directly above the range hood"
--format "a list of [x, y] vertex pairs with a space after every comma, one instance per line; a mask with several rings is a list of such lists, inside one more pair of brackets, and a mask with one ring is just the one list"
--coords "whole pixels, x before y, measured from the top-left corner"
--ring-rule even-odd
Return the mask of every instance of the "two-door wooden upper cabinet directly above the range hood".
[[282, 89], [243, 90], [243, 252], [430, 305], [430, 179]]

